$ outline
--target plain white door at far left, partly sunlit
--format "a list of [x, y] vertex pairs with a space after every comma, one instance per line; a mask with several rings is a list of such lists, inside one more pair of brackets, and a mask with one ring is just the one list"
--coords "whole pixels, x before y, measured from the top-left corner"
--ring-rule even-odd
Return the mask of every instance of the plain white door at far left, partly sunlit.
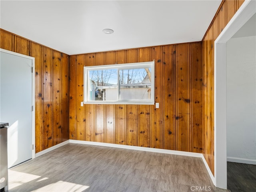
[[32, 158], [33, 60], [1, 53], [0, 122], [8, 122], [8, 168]]

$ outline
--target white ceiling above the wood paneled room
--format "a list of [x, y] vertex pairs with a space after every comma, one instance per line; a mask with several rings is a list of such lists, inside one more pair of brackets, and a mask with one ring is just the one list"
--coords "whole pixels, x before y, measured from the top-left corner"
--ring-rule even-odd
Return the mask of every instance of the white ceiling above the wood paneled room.
[[[202, 40], [221, 0], [0, 1], [4, 30], [66, 54]], [[114, 30], [104, 34], [104, 28]]]

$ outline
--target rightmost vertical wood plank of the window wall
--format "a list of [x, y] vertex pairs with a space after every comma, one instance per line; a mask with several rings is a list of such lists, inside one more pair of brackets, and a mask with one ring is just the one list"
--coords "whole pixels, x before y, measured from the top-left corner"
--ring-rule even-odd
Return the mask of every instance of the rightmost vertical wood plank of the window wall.
[[202, 153], [202, 44], [190, 44], [190, 152]]

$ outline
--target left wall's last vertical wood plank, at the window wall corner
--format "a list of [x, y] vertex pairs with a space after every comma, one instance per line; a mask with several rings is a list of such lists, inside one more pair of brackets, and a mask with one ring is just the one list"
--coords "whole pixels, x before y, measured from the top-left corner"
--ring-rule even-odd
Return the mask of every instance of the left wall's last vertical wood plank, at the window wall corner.
[[61, 54], [61, 131], [62, 142], [69, 139], [69, 56]]

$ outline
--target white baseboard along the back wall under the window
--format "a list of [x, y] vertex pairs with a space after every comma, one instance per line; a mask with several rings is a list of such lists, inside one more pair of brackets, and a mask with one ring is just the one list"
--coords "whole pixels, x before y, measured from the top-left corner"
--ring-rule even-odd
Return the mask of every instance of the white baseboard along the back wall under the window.
[[138, 151], [148, 151], [148, 152], [156, 152], [156, 153], [183, 155], [183, 156], [190, 156], [190, 157], [202, 157], [201, 153], [194, 153], [194, 152], [175, 151], [175, 150], [157, 149], [157, 148], [149, 148], [149, 147], [138, 147], [138, 146], [130, 146], [130, 145], [111, 144], [111, 143], [101, 143], [101, 142], [92, 142], [92, 141], [80, 141], [80, 140], [72, 140], [72, 139], [70, 139], [69, 142], [77, 143], [77, 144], [87, 144], [87, 145], [96, 145], [96, 146], [104, 146], [104, 147], [132, 149], [132, 150], [138, 150]]

